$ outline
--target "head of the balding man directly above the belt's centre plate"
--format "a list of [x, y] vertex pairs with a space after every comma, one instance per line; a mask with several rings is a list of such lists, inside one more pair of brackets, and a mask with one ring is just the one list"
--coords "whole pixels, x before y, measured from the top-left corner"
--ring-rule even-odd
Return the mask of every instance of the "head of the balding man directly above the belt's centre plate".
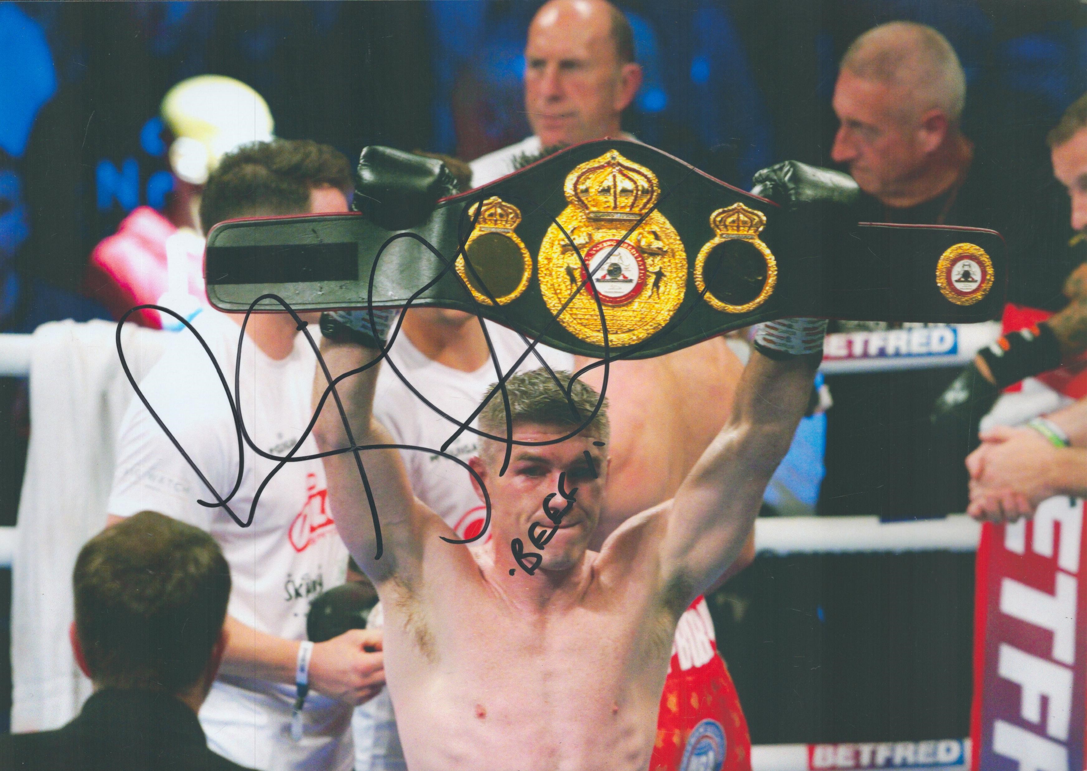
[[641, 84], [621, 64], [602, 4], [551, 2], [536, 14], [525, 47], [525, 110], [544, 147], [620, 132], [620, 115]]

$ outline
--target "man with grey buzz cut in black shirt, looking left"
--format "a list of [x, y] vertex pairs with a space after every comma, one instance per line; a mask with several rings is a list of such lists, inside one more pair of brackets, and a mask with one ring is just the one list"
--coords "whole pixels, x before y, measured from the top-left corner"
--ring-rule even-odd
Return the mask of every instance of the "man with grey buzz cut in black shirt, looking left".
[[[983, 352], [958, 377], [937, 369], [833, 380], [821, 513], [903, 519], [962, 511], [962, 461], [1000, 390], [1087, 347], [1087, 295], [1069, 303], [1061, 293], [1076, 257], [1060, 190], [1020, 160], [1033, 158], [1029, 147], [997, 156], [964, 134], [966, 96], [959, 57], [938, 30], [913, 22], [873, 27], [839, 65], [830, 157], [864, 194], [862, 219], [999, 232], [1009, 254], [1005, 322], [1029, 321], [1005, 323], [1007, 353]], [[1037, 334], [1016, 331], [1054, 311]]]

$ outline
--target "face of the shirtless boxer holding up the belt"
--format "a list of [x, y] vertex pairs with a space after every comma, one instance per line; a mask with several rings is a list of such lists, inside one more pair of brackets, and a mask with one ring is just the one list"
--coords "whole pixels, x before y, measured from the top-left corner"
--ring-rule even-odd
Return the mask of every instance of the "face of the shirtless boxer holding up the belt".
[[[546, 442], [569, 433], [569, 430], [558, 426], [515, 424], [513, 427], [513, 438], [525, 442]], [[602, 448], [594, 444], [596, 440], [595, 436], [579, 434], [554, 445], [514, 445], [510, 468], [502, 476], [498, 475], [504, 449], [501, 445], [488, 443], [483, 457], [471, 460], [472, 468], [483, 477], [490, 496], [495, 543], [509, 544], [513, 538], [521, 538], [525, 551], [542, 555], [540, 567], [545, 570], [565, 570], [580, 559], [600, 520], [608, 472], [608, 459]], [[585, 452], [592, 459], [591, 464], [586, 460]], [[537, 549], [528, 539], [528, 528], [534, 522], [545, 532], [553, 526], [544, 513], [544, 499], [553, 493], [551, 510], [564, 508], [566, 500], [559, 488], [559, 477], [563, 474], [563, 489], [572, 494], [577, 488], [573, 493], [574, 503], [547, 546]], [[473, 484], [483, 499], [474, 478]]]

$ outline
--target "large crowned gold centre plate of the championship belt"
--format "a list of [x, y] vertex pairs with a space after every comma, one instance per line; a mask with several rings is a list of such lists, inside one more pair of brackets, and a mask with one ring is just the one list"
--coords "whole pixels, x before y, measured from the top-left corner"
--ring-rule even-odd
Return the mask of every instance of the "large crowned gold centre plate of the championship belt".
[[548, 228], [537, 258], [544, 302], [587, 343], [604, 343], [601, 309], [609, 345], [645, 340], [673, 316], [687, 288], [687, 254], [663, 214], [650, 212], [627, 235], [660, 198], [657, 175], [610, 150], [574, 169], [565, 195], [562, 228]]

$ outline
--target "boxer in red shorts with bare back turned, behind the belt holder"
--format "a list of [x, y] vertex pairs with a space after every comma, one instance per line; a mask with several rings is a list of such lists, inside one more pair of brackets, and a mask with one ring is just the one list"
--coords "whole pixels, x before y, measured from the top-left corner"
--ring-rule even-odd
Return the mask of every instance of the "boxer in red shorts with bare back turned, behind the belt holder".
[[[577, 368], [588, 363], [584, 357], [576, 358]], [[611, 462], [600, 525], [590, 549], [599, 550], [628, 519], [676, 494], [728, 420], [741, 371], [724, 337], [653, 359], [612, 362], [608, 377]], [[584, 380], [599, 389], [603, 368], [589, 371]], [[753, 559], [752, 533], [716, 585]], [[717, 654], [713, 619], [702, 596], [691, 602], [676, 626], [649, 768], [688, 768], [684, 762], [689, 763], [692, 756], [721, 771], [751, 769], [747, 720]]]

